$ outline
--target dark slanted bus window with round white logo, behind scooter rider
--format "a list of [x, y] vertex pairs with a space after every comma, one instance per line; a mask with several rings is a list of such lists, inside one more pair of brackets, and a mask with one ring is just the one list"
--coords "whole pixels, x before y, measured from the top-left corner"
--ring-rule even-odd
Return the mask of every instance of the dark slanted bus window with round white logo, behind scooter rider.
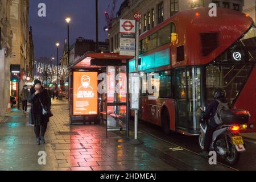
[[234, 104], [256, 61], [256, 28], [249, 31], [206, 67], [207, 105], [213, 91], [224, 88], [226, 97]]

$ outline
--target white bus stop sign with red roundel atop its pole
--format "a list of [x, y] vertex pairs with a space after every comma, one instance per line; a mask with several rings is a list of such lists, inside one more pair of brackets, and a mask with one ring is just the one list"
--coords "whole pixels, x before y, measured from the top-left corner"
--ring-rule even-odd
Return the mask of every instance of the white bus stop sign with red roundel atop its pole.
[[120, 51], [122, 56], [135, 56], [135, 20], [120, 20]]

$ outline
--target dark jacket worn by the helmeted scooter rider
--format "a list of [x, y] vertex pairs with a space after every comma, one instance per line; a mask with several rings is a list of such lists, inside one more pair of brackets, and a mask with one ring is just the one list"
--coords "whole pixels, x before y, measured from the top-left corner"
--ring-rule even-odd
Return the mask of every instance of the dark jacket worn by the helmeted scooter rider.
[[[225, 98], [218, 98], [218, 100], [223, 103], [228, 102], [228, 101], [226, 101]], [[205, 119], [205, 120], [210, 119], [209, 125], [212, 127], [218, 127], [218, 125], [216, 124], [216, 122], [214, 120], [214, 115], [216, 114], [217, 107], [218, 107], [218, 101], [213, 100], [212, 102], [210, 102], [209, 106], [207, 107], [207, 109], [205, 110], [205, 113], [203, 115], [203, 119]]]

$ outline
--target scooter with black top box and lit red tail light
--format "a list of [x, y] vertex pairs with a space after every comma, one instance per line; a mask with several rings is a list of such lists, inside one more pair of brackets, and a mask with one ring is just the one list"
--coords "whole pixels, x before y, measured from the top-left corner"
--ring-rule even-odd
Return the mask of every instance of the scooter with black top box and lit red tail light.
[[[204, 108], [200, 107], [201, 114]], [[212, 136], [210, 151], [216, 151], [229, 164], [235, 164], [240, 158], [240, 153], [245, 151], [246, 144], [240, 135], [241, 129], [246, 129], [250, 113], [242, 109], [222, 110], [222, 125], [218, 126]], [[199, 135], [199, 145], [204, 150], [204, 138], [209, 121], [200, 122], [201, 134]]]

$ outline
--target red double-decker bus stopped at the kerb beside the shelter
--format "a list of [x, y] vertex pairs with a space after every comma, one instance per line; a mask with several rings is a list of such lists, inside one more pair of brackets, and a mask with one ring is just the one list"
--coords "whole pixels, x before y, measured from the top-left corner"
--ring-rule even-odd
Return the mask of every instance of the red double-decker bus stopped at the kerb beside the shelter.
[[[234, 10], [217, 9], [217, 17], [208, 13], [207, 7], [182, 11], [140, 36], [139, 72], [152, 76], [156, 92], [142, 92], [150, 87], [141, 80], [139, 118], [164, 133], [197, 135], [200, 106], [224, 88], [233, 108], [250, 112], [242, 132], [255, 132], [255, 24]], [[135, 60], [129, 65], [135, 72]]]

